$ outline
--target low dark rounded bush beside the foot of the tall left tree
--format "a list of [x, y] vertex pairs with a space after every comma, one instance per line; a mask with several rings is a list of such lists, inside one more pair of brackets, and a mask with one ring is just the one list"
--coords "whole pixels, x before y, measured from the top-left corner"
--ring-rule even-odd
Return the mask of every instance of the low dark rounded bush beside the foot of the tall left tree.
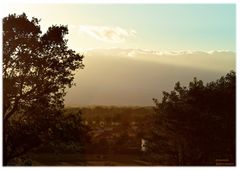
[[56, 117], [49, 128], [47, 142], [42, 142], [34, 152], [76, 153], [84, 152], [90, 142], [90, 127], [82, 123], [82, 113], [70, 112]]

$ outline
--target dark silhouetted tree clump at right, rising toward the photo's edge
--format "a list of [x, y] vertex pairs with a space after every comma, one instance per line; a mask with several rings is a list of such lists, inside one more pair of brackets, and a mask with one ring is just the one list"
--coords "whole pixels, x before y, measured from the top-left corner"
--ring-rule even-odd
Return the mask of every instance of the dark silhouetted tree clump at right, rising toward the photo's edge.
[[231, 71], [206, 85], [196, 78], [188, 88], [177, 82], [161, 102], [154, 99], [152, 152], [167, 155], [174, 165], [214, 165], [216, 159], [234, 164], [235, 79]]

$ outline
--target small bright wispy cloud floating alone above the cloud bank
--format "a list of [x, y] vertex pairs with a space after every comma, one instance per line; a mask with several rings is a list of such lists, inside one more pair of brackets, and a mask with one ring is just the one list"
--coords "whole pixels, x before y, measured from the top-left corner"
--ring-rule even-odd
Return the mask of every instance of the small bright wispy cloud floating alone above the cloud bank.
[[80, 25], [79, 31], [82, 33], [86, 33], [100, 41], [112, 43], [124, 42], [127, 38], [136, 35], [136, 31], [133, 29], [126, 30], [121, 27], [94, 25]]

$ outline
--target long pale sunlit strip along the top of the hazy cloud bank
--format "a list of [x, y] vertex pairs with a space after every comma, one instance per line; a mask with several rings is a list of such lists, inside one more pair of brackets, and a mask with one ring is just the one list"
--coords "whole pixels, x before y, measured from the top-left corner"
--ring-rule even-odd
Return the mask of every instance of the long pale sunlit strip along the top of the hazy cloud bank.
[[184, 66], [226, 72], [235, 70], [236, 54], [226, 50], [213, 51], [158, 51], [149, 49], [92, 49], [86, 56], [124, 57], [136, 61]]

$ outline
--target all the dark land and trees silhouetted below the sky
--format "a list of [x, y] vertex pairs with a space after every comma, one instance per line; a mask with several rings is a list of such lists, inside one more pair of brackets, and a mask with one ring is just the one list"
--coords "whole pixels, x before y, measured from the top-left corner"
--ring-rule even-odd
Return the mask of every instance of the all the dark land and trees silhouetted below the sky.
[[3, 165], [235, 165], [236, 75], [176, 83], [155, 107], [64, 110], [83, 68], [66, 26], [3, 19]]

